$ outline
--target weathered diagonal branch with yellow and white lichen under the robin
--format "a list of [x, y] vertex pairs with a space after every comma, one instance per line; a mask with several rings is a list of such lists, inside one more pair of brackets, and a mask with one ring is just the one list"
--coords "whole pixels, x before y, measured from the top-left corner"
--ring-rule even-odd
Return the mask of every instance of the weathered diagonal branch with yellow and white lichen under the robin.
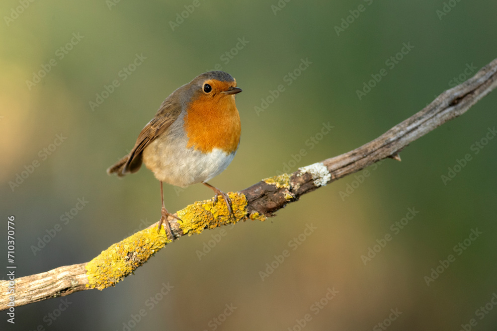
[[[411, 142], [464, 114], [496, 86], [497, 59], [375, 140], [291, 174], [266, 178], [243, 191], [230, 193], [235, 217], [230, 216], [223, 199], [217, 203], [212, 199], [199, 201], [176, 213], [182, 221], [169, 218], [172, 231], [176, 237], [181, 237], [247, 219], [263, 221], [286, 204], [297, 201], [301, 195], [375, 162], [385, 158], [400, 161], [399, 152]], [[157, 224], [112, 245], [89, 262], [15, 279], [15, 307], [77, 291], [114, 286], [170, 243], [164, 230], [157, 233]], [[8, 286], [9, 281], [0, 281], [0, 310], [9, 308]]]

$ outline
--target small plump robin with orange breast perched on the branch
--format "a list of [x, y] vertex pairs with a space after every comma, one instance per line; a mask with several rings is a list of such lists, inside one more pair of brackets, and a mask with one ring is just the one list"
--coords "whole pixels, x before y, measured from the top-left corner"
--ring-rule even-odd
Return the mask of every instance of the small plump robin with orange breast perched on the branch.
[[107, 169], [124, 176], [140, 169], [142, 162], [161, 182], [161, 220], [174, 240], [164, 205], [163, 182], [180, 187], [203, 183], [221, 195], [233, 214], [229, 196], [207, 183], [231, 163], [240, 143], [240, 114], [235, 94], [242, 89], [223, 71], [195, 77], [169, 95], [155, 117], [138, 135], [131, 152]]

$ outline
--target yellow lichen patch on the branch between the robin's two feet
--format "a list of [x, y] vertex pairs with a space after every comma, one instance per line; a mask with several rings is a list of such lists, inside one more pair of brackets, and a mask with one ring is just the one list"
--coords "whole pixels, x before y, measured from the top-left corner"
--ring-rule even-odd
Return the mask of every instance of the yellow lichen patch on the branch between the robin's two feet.
[[206, 228], [214, 229], [245, 219], [247, 215], [245, 195], [230, 192], [228, 196], [231, 199], [234, 218], [230, 215], [226, 202], [221, 197], [218, 197], [217, 203], [214, 203], [213, 199], [197, 201], [178, 211], [178, 217], [181, 219], [178, 224], [183, 233], [191, 236], [201, 233]]

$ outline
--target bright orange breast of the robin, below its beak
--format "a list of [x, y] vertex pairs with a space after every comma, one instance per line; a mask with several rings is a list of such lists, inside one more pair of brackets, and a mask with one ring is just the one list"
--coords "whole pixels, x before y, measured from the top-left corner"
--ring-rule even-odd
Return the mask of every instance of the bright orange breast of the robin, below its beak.
[[189, 104], [184, 129], [188, 137], [187, 148], [204, 153], [215, 148], [226, 153], [235, 152], [242, 132], [235, 96], [200, 96]]

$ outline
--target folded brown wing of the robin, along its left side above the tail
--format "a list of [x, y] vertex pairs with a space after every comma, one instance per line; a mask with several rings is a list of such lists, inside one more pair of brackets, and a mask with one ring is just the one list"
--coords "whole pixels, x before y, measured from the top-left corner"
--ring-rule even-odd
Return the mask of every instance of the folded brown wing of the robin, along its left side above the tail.
[[178, 118], [181, 105], [171, 100], [169, 96], [162, 103], [156, 116], [143, 128], [138, 135], [135, 147], [128, 155], [128, 160], [121, 168], [121, 174], [138, 171], [142, 165], [142, 153], [145, 147], [162, 135], [166, 129]]

